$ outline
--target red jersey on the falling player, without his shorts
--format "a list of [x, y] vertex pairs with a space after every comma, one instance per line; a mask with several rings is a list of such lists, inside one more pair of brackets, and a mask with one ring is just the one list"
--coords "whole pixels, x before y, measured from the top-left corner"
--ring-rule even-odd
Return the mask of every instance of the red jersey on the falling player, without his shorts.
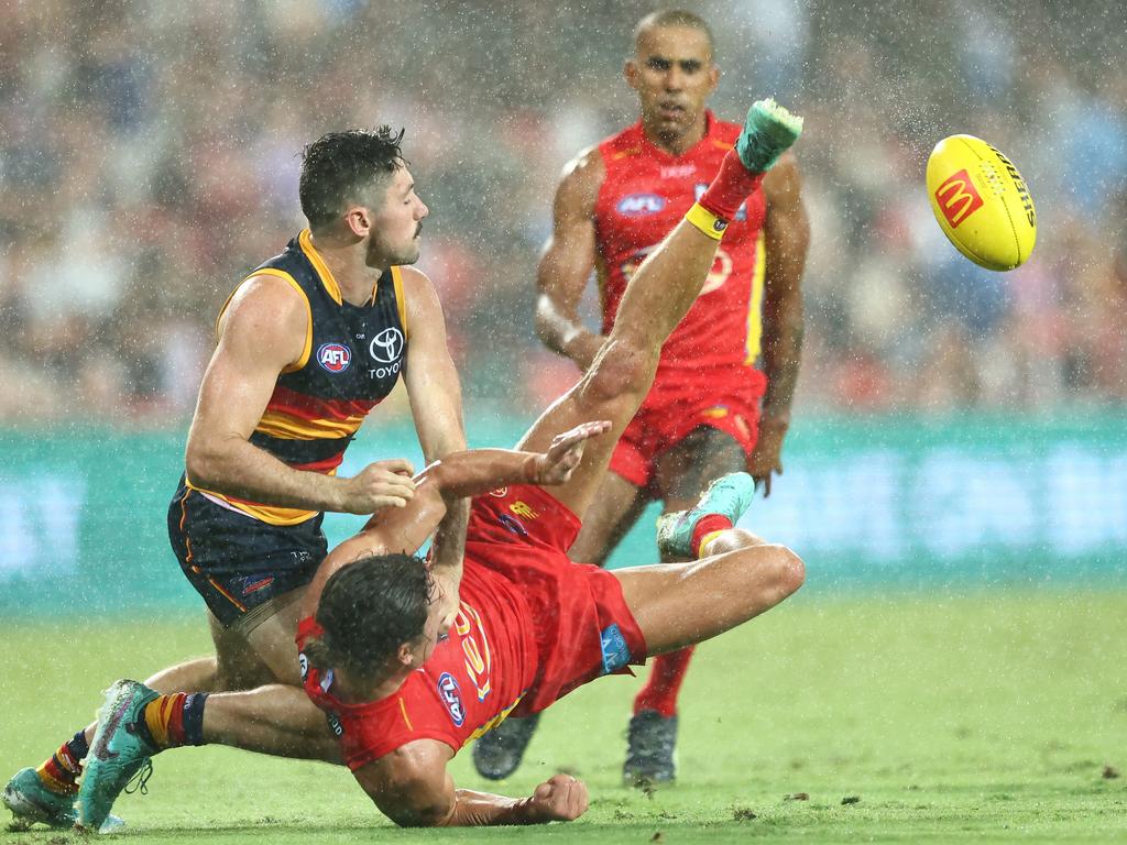
[[[520, 588], [468, 562], [461, 608], [446, 639], [391, 695], [345, 704], [332, 694], [332, 670], [301, 657], [305, 692], [326, 711], [353, 771], [417, 739], [435, 739], [455, 751], [498, 724], [536, 676], [532, 614]], [[312, 617], [299, 625], [298, 648], [318, 631]]]

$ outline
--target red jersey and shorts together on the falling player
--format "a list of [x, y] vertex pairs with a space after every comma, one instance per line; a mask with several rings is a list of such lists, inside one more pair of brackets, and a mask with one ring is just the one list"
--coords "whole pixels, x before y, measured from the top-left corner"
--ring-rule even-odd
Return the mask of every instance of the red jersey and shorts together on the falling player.
[[[622, 585], [565, 550], [579, 517], [547, 490], [514, 484], [474, 497], [465, 532], [461, 610], [447, 639], [390, 695], [345, 704], [332, 670], [301, 656], [309, 697], [326, 711], [353, 771], [417, 739], [455, 753], [516, 709], [539, 713], [583, 684], [646, 660]], [[298, 650], [316, 635], [298, 628]]]

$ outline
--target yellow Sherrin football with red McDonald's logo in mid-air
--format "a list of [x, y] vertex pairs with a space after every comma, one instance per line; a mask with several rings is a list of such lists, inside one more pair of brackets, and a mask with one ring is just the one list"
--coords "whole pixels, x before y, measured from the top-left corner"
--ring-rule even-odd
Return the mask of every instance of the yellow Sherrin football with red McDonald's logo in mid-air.
[[1033, 251], [1037, 212], [1026, 180], [985, 141], [951, 135], [935, 144], [928, 197], [943, 234], [975, 264], [1012, 270]]

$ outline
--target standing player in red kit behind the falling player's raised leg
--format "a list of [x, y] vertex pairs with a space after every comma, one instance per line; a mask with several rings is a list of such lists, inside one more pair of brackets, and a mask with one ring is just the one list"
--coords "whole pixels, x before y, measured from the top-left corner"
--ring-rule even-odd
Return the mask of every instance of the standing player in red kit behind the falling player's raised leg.
[[[700, 197], [739, 134], [738, 124], [706, 109], [719, 70], [711, 33], [692, 12], [644, 18], [625, 78], [641, 119], [565, 169], [538, 274], [536, 331], [583, 371], [614, 324], [630, 276]], [[746, 469], [771, 493], [798, 376], [808, 240], [798, 164], [787, 154], [731, 221], [700, 299], [665, 344], [654, 388], [611, 460], [598, 508], [584, 516], [574, 560], [604, 564], [650, 500], [663, 501], [666, 514], [683, 510], [727, 472]], [[592, 269], [601, 333], [577, 314]], [[635, 699], [628, 783], [674, 779], [676, 696], [691, 656], [689, 648], [656, 658]], [[478, 772], [512, 774], [534, 729], [533, 720], [512, 719], [490, 733], [473, 750]]]

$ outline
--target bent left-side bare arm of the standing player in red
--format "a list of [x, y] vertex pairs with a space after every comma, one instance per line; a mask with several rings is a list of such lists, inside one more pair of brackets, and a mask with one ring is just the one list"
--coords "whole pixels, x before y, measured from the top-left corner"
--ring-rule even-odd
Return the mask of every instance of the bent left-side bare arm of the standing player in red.
[[552, 234], [536, 269], [536, 335], [583, 371], [604, 340], [583, 324], [578, 309], [595, 266], [595, 197], [605, 176], [595, 149], [579, 153], [565, 168], [552, 206]]

